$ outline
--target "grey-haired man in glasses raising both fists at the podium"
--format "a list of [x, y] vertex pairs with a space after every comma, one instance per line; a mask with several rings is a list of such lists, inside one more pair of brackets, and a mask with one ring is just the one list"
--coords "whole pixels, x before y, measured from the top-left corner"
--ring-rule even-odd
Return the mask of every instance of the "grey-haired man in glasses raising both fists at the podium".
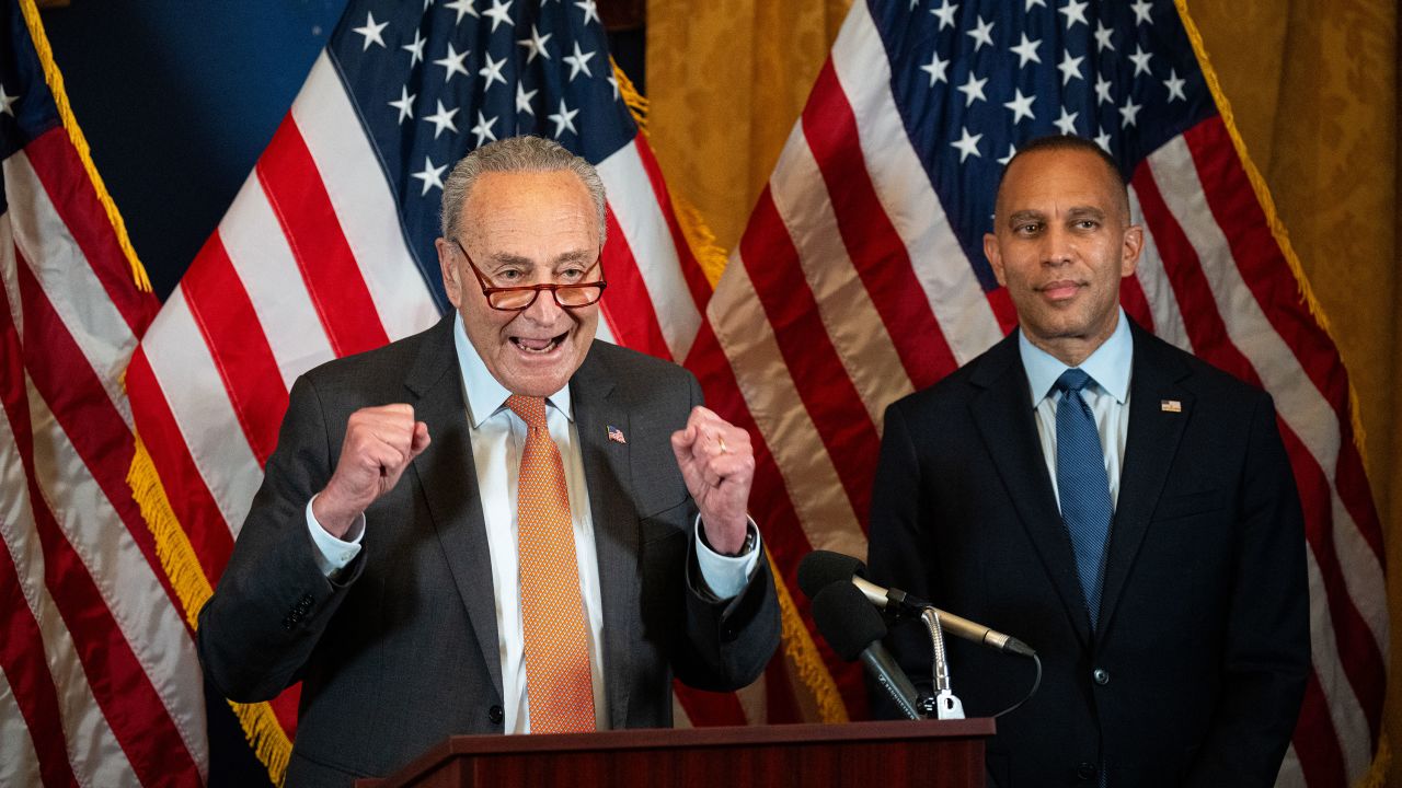
[[593, 167], [485, 146], [443, 217], [456, 314], [297, 380], [200, 611], [230, 698], [303, 681], [289, 785], [453, 733], [669, 726], [673, 676], [735, 690], [778, 644], [749, 436], [686, 370], [594, 341]]

